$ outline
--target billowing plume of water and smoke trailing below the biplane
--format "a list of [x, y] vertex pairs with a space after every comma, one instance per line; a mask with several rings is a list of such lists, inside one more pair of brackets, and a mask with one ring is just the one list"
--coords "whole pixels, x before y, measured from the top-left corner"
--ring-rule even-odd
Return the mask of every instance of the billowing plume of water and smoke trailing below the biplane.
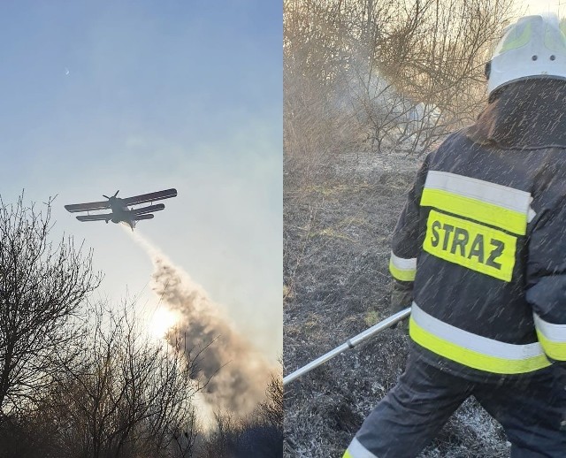
[[160, 305], [179, 316], [167, 333], [172, 347], [194, 361], [191, 378], [203, 385], [203, 401], [213, 412], [244, 417], [265, 399], [272, 368], [231, 324], [226, 312], [212, 302], [203, 287], [153, 247], [131, 233], [154, 265], [152, 289]]

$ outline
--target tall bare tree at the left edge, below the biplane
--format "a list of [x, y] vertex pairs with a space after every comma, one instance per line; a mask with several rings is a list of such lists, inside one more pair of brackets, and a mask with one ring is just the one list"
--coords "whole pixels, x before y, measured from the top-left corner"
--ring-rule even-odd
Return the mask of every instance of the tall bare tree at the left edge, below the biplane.
[[60, 362], [73, 359], [73, 326], [99, 284], [91, 253], [72, 238], [53, 245], [51, 201], [42, 211], [0, 198], [0, 413], [25, 408], [50, 384]]

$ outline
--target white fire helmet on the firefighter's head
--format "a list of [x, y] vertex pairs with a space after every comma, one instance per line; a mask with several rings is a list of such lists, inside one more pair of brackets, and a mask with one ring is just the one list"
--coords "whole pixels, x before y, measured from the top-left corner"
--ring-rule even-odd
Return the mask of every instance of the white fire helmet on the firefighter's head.
[[566, 36], [554, 14], [526, 16], [507, 27], [486, 65], [487, 93], [517, 80], [566, 80]]

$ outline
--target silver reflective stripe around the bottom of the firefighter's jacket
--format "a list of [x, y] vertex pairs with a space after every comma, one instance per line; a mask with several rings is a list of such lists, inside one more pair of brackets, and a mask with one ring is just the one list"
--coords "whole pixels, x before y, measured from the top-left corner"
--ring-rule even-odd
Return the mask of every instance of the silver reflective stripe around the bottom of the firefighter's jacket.
[[488, 339], [486, 337], [464, 331], [452, 324], [440, 321], [432, 317], [413, 302], [411, 316], [415, 323], [424, 331], [433, 334], [440, 339], [458, 346], [470, 349], [481, 355], [489, 355], [511, 361], [521, 361], [528, 358], [544, 355], [544, 351], [539, 342], [526, 345], [514, 345], [499, 340]]

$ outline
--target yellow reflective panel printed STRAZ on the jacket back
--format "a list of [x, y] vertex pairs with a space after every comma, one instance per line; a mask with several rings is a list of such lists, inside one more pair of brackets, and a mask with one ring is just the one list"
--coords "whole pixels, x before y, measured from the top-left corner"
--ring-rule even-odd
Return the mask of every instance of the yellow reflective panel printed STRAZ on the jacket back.
[[513, 276], [516, 237], [493, 227], [431, 210], [423, 249], [495, 279], [511, 281]]

